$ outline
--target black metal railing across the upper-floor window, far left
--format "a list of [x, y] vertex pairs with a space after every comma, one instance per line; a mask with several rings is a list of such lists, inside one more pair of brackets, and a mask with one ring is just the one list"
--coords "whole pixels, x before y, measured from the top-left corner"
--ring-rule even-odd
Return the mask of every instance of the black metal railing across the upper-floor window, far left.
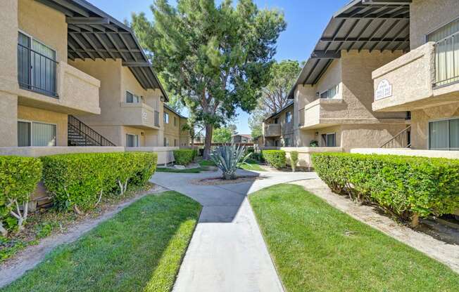
[[18, 82], [21, 88], [57, 97], [56, 60], [18, 44]]

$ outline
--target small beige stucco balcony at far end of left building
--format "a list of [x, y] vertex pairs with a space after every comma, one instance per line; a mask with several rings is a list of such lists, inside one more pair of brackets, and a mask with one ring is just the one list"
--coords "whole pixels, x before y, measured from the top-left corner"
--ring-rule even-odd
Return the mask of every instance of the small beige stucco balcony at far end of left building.
[[121, 102], [122, 110], [118, 121], [124, 126], [158, 129], [159, 112], [144, 102]]

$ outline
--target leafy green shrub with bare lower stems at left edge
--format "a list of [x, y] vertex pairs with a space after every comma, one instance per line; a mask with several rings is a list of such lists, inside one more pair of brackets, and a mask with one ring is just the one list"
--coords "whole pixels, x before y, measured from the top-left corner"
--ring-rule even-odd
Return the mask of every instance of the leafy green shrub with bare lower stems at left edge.
[[[30, 194], [42, 176], [42, 163], [31, 157], [0, 157], [0, 233], [23, 229]], [[23, 206], [21, 211], [20, 206]]]

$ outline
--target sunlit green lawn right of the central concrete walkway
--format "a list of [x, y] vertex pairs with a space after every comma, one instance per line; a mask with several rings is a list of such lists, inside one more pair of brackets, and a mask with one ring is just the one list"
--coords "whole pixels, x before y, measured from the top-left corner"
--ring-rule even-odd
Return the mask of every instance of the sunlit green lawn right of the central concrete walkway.
[[287, 291], [459, 291], [459, 274], [322, 201], [275, 185], [251, 206]]

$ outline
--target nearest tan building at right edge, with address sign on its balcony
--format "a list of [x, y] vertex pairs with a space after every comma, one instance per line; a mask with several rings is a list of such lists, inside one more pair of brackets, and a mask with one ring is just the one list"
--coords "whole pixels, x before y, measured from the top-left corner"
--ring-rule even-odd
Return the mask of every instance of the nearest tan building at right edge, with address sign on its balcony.
[[413, 150], [459, 150], [459, 3], [409, 2], [409, 48], [372, 72], [372, 110], [409, 111]]

